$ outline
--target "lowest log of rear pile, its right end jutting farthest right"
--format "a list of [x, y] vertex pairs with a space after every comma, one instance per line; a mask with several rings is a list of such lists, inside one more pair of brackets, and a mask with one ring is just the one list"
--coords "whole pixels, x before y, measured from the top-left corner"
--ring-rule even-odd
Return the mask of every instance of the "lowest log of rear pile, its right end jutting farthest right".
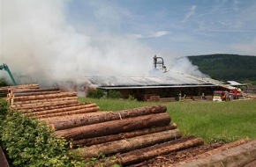
[[90, 108], [83, 108], [83, 109], [77, 109], [77, 110], [60, 112], [60, 113], [48, 113], [43, 115], [34, 115], [34, 113], [31, 113], [31, 115], [27, 114], [26, 116], [40, 119], [40, 118], [49, 118], [49, 117], [56, 117], [56, 116], [62, 116], [62, 115], [72, 115], [72, 114], [78, 114], [78, 113], [93, 113], [93, 112], [98, 112], [99, 110], [100, 110], [99, 106], [94, 106]]

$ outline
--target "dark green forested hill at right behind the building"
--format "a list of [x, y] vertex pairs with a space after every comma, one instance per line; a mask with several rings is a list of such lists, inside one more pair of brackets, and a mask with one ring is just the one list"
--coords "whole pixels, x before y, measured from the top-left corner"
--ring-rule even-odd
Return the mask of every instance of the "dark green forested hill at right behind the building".
[[256, 83], [256, 56], [207, 54], [187, 56], [204, 74], [221, 81]]

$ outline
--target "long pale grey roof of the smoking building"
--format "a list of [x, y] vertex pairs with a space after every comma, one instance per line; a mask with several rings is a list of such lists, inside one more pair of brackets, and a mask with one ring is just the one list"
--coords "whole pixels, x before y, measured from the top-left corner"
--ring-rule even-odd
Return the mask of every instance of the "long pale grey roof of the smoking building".
[[173, 73], [166, 76], [86, 76], [91, 84], [102, 89], [136, 89], [216, 86], [195, 76]]

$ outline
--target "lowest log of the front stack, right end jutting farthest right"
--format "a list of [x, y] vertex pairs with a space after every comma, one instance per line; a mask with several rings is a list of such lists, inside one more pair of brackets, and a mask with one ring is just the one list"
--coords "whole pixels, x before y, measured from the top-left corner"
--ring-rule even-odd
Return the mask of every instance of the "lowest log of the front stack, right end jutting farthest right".
[[[179, 139], [177, 141], [179, 141]], [[114, 160], [108, 159], [105, 163], [108, 163], [106, 164], [106, 166], [111, 166], [111, 164], [113, 165], [115, 163], [119, 163], [124, 166], [127, 166], [134, 163], [140, 163], [140, 162], [146, 161], [148, 159], [154, 158], [155, 156], [167, 155], [174, 151], [189, 149], [189, 148], [197, 147], [204, 144], [201, 138], [192, 138], [189, 140], [185, 140], [184, 142], [176, 142], [176, 141], [173, 141], [173, 142], [174, 143], [166, 142], [166, 143], [157, 144], [151, 147], [147, 147], [144, 149], [132, 150], [130, 152], [117, 155], [117, 159], [114, 159]], [[95, 166], [100, 166], [100, 165], [95, 165]]]

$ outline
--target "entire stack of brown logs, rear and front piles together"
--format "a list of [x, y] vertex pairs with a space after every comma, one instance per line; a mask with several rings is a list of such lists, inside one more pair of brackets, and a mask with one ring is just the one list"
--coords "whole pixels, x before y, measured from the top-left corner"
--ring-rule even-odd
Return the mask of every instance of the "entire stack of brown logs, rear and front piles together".
[[99, 112], [95, 104], [79, 104], [76, 92], [56, 88], [11, 89], [8, 100], [11, 108], [26, 117], [50, 125], [54, 134], [69, 141], [72, 151], [79, 156], [111, 157], [105, 159], [104, 166], [139, 163], [203, 144], [200, 138], [181, 137], [162, 105]]

